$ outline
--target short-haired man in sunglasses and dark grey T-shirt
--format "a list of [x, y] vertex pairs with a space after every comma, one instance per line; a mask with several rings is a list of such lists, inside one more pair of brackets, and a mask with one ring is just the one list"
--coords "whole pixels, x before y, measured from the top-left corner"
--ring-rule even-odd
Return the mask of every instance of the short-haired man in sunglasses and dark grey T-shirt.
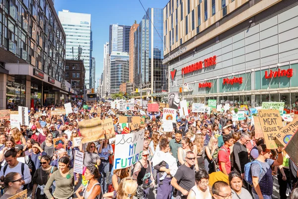
[[189, 191], [195, 185], [196, 155], [192, 151], [187, 151], [185, 159], [186, 162], [178, 168], [171, 180], [171, 185], [178, 190], [176, 199], [186, 199]]

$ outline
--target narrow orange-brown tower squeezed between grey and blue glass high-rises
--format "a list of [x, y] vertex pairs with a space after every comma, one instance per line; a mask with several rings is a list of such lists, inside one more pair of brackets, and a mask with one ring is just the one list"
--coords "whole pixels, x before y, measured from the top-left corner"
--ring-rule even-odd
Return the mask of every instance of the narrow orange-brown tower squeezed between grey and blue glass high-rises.
[[135, 55], [135, 32], [138, 28], [139, 24], [135, 23], [132, 25], [129, 32], [129, 81], [134, 82], [134, 55]]

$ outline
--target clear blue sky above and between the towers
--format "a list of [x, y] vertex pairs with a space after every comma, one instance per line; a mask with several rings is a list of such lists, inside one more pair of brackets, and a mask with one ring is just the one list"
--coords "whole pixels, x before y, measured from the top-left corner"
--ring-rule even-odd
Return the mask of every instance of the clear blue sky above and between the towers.
[[[141, 0], [145, 9], [163, 8], [169, 0]], [[139, 0], [55, 0], [55, 9], [91, 14], [93, 32], [93, 51], [95, 57], [95, 81], [100, 78], [103, 69], [103, 45], [109, 41], [109, 25], [132, 25], [143, 18], [145, 11]], [[96, 83], [97, 85], [97, 83]]]

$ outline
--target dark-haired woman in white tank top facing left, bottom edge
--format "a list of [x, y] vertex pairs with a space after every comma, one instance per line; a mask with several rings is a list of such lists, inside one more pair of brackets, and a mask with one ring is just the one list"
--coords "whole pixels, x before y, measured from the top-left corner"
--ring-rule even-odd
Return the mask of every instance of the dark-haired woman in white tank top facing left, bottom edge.
[[[95, 166], [88, 166], [84, 172], [85, 180], [88, 181], [87, 185], [83, 188], [80, 186], [75, 195], [78, 199], [101, 199], [101, 187], [97, 179], [100, 178], [98, 169]], [[83, 195], [80, 196], [79, 193], [83, 192]]]

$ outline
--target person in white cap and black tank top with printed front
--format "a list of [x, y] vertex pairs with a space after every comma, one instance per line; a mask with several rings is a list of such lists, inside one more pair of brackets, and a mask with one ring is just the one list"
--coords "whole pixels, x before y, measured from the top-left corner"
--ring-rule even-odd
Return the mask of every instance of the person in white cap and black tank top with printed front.
[[147, 199], [149, 195], [149, 188], [155, 186], [155, 180], [153, 178], [152, 168], [148, 157], [149, 151], [143, 151], [142, 159], [136, 163], [134, 168], [133, 178], [136, 178], [138, 183], [136, 195], [138, 199]]

